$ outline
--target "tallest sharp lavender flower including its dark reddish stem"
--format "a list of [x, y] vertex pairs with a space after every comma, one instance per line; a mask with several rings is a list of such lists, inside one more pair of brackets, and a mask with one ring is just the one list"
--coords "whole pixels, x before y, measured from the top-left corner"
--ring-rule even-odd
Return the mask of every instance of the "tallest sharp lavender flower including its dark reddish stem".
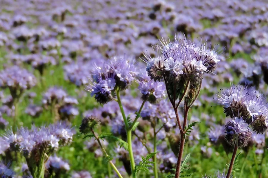
[[[195, 44], [188, 39], [174, 39], [173, 42], [162, 39], [161, 45], [156, 46], [156, 49], [159, 54], [157, 57], [151, 58], [145, 55], [143, 60], [147, 63], [146, 71], [151, 79], [164, 81], [167, 95], [176, 114], [181, 134], [175, 174], [175, 177], [179, 178], [189, 109], [199, 95], [202, 76], [213, 72], [221, 57], [216, 49], [211, 50], [210, 46], [207, 47], [207, 43]], [[182, 125], [177, 109], [183, 99], [185, 108]]]

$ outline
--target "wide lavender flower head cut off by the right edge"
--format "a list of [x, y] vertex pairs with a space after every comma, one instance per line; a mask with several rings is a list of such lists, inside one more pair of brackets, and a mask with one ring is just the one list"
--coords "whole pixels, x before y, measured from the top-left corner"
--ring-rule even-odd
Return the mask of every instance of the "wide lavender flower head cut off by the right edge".
[[226, 116], [243, 118], [257, 133], [267, 130], [268, 108], [262, 94], [252, 88], [233, 85], [228, 92], [222, 91], [218, 96]]

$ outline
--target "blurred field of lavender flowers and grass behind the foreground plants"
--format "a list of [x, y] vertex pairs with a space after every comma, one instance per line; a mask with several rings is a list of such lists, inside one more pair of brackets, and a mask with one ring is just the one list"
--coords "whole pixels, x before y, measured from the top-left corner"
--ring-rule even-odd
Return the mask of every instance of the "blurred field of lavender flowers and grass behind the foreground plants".
[[[185, 154], [191, 154], [188, 173], [199, 178], [226, 171], [231, 154], [226, 154], [222, 144], [210, 142], [211, 135], [218, 134], [209, 132], [210, 128], [226, 122], [215, 93], [230, 88], [230, 83], [247, 84], [268, 93], [263, 74], [268, 63], [267, 9], [266, 0], [0, 0], [0, 78], [29, 77], [28, 72], [35, 77], [29, 79], [33, 85], [24, 90], [17, 111], [10, 90], [0, 90], [1, 132], [10, 127], [68, 120], [77, 134], [70, 146], [57, 152], [70, 167], [62, 177], [88, 171], [91, 177], [106, 178], [108, 167], [102, 153], [94, 140], [83, 139], [79, 125], [84, 116], [95, 115], [103, 123], [99, 132], [120, 136], [124, 128], [120, 119], [111, 119], [119, 111], [114, 103], [101, 106], [86, 91], [91, 71], [114, 55], [133, 56], [142, 63], [143, 53], [155, 55], [152, 45], [159, 44], [158, 39], [173, 40], [175, 34], [177, 38], [185, 35], [222, 48], [221, 55], [225, 57], [214, 74], [205, 75], [190, 113], [190, 120], [200, 123], [185, 147]], [[142, 102], [136, 86], [123, 96], [125, 107], [134, 112]], [[55, 109], [50, 109], [53, 103], [48, 102], [52, 96], [60, 98], [60, 103], [53, 105]], [[144, 135], [147, 134], [149, 129]], [[236, 177], [255, 178], [260, 173], [263, 178], [268, 177], [265, 137], [264, 134], [259, 142], [254, 142], [249, 151], [239, 150]], [[175, 132], [163, 131], [158, 138], [158, 151], [169, 149], [159, 156], [159, 177], [171, 174], [167, 170], [174, 167], [171, 138], [176, 139]], [[143, 145], [135, 142], [134, 154], [143, 155]], [[119, 152], [112, 146], [106, 147], [125, 172]], [[0, 144], [0, 153], [4, 151], [4, 144]], [[23, 163], [21, 158], [11, 164], [18, 175], [22, 175]], [[90, 177], [84, 177], [87, 176]], [[147, 172], [140, 177], [153, 176]]]

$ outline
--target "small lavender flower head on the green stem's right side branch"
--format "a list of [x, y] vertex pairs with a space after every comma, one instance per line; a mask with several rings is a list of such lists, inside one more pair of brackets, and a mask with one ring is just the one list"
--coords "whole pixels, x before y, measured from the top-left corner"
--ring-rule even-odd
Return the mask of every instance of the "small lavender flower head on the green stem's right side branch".
[[153, 81], [147, 74], [138, 77], [138, 89], [141, 91], [141, 99], [154, 104], [165, 97], [165, 85], [163, 82]]

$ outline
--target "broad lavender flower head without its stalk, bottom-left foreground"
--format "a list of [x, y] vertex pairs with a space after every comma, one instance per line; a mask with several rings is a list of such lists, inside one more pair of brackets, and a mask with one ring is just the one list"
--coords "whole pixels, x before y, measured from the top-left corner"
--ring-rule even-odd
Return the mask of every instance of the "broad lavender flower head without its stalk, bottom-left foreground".
[[30, 130], [22, 127], [16, 133], [10, 130], [4, 135], [4, 139], [14, 151], [20, 151], [26, 158], [30, 158], [36, 152], [49, 154], [59, 146], [70, 143], [74, 133], [70, 125], [60, 122]]

